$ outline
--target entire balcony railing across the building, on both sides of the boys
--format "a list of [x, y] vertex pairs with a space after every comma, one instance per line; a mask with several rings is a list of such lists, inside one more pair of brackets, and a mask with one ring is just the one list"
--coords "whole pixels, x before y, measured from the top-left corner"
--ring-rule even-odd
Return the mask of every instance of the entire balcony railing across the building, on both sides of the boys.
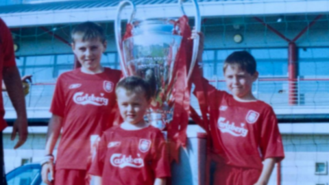
[[[223, 79], [209, 79], [210, 84], [220, 90], [227, 90]], [[49, 108], [55, 90], [55, 83], [32, 84], [30, 93], [25, 97], [27, 108]], [[257, 99], [271, 106], [329, 106], [329, 79], [304, 79], [260, 77], [254, 82], [252, 93]], [[12, 108], [12, 103], [3, 93], [5, 108]], [[192, 104], [197, 103], [194, 98]]]

